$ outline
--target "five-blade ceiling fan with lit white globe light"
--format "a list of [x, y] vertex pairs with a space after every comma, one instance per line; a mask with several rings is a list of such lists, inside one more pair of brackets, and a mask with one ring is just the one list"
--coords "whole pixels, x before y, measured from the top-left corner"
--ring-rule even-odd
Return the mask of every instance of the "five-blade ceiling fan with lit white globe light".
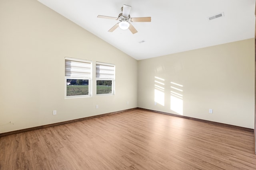
[[151, 17], [138, 17], [138, 18], [130, 18], [130, 11], [131, 6], [124, 5], [121, 8], [122, 13], [118, 15], [118, 18], [116, 17], [109, 17], [109, 16], [100, 16], [98, 15], [98, 18], [106, 18], [106, 19], [112, 19], [112, 20], [118, 20], [120, 21], [116, 25], [114, 25], [108, 32], [113, 32], [117, 27], [120, 27], [121, 29], [130, 29], [130, 31], [134, 34], [138, 31], [132, 26], [130, 22], [151, 22]]

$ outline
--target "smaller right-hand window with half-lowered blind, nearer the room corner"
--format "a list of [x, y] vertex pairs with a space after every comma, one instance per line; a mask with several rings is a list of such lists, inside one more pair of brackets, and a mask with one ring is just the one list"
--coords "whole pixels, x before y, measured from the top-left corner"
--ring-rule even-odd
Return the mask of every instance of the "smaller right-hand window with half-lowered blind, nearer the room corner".
[[96, 63], [96, 84], [96, 94], [114, 94], [114, 64]]

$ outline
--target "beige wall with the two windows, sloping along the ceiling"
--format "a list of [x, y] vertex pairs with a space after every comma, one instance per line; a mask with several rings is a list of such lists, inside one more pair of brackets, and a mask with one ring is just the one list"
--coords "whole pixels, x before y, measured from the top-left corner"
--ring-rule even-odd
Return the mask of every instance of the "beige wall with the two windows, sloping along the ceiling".
[[[65, 57], [116, 64], [116, 95], [93, 74], [92, 98], [64, 99]], [[36, 0], [1, 0], [0, 133], [137, 107], [137, 63]]]

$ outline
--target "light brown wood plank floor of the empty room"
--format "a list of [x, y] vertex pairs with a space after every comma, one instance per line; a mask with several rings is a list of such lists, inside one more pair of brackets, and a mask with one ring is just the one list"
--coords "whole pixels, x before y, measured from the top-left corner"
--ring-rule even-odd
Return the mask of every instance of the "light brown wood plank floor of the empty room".
[[141, 109], [0, 138], [0, 170], [256, 170], [254, 134]]

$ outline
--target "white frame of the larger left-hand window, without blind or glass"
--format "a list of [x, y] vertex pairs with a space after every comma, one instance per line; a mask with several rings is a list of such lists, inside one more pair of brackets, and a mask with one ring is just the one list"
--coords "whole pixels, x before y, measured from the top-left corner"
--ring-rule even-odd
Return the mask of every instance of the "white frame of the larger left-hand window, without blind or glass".
[[[90, 64], [90, 76], [66, 76], [66, 60], [70, 61], [76, 61], [76, 62], [81, 62], [81, 63], [89, 63]], [[70, 98], [88, 98], [92, 97], [92, 61], [88, 60], [83, 60], [83, 59], [75, 59], [75, 58], [70, 58], [70, 57], [65, 57], [65, 90], [64, 90], [64, 96], [65, 99], [70, 99]], [[74, 96], [67, 96], [67, 80], [68, 79], [74, 79], [74, 80], [88, 80], [88, 94], [86, 95], [74, 95]]]

